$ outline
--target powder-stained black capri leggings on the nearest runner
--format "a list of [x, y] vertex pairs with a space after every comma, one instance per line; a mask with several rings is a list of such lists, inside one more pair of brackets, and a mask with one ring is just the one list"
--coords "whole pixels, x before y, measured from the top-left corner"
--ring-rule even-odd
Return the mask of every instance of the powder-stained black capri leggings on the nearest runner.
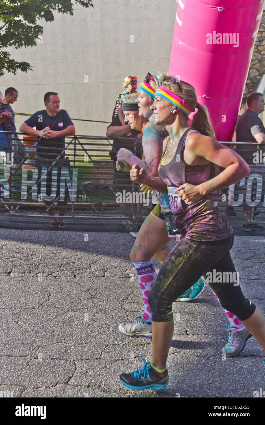
[[[243, 294], [229, 250], [234, 236], [199, 242], [183, 238], [165, 259], [148, 295], [152, 321], [173, 320], [172, 302], [204, 275], [222, 307], [246, 320], [256, 306]], [[221, 272], [221, 273], [219, 273]]]

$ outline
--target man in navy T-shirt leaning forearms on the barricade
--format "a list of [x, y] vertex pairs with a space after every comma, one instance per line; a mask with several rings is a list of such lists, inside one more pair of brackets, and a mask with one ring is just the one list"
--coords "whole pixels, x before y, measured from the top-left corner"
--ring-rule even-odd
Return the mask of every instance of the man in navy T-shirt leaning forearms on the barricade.
[[[65, 157], [65, 136], [73, 136], [75, 134], [74, 124], [68, 113], [60, 110], [60, 99], [57, 93], [49, 91], [44, 96], [44, 104], [46, 109], [37, 111], [29, 119], [27, 119], [21, 126], [22, 133], [37, 136], [38, 142], [36, 144], [36, 167], [38, 168], [38, 180], [41, 178], [42, 167], [47, 169], [53, 164], [51, 170], [48, 171], [46, 176], [43, 176], [42, 181], [46, 180], [46, 195], [50, 198], [61, 197], [64, 192], [64, 201], [57, 201], [59, 207], [59, 215], [63, 217], [66, 210], [67, 201], [69, 199], [69, 192], [67, 186], [60, 188], [61, 169], [68, 168], [70, 172], [69, 158]], [[34, 130], [33, 127], [36, 127]], [[52, 174], [57, 173], [56, 195], [52, 187]], [[65, 180], [64, 180], [65, 181]], [[41, 182], [38, 185], [38, 192], [40, 193]], [[54, 200], [44, 201], [45, 205], [54, 204]], [[49, 215], [54, 216], [54, 207], [49, 208]], [[49, 224], [51, 229], [65, 228], [63, 218], [51, 219]]]

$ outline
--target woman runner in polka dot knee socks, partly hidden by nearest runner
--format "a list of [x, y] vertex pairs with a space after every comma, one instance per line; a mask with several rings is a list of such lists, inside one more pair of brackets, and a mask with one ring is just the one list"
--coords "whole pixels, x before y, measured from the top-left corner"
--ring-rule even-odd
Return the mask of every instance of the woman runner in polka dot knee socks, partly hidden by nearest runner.
[[[139, 86], [138, 100], [139, 116], [144, 116], [149, 122], [145, 125], [142, 135], [142, 149], [145, 160], [137, 158], [131, 151], [121, 148], [117, 153], [117, 166], [126, 168], [122, 162], [129, 164], [129, 170], [134, 164], [145, 167], [146, 172], [152, 178], [158, 177], [158, 166], [162, 156], [162, 141], [168, 134], [160, 125], [154, 124], [151, 105], [154, 102], [155, 89], [166, 79], [171, 79], [168, 74], [158, 73], [154, 76], [147, 74]], [[126, 113], [126, 112], [124, 112]], [[154, 196], [152, 196], [154, 201]], [[151, 337], [151, 309], [148, 304], [148, 293], [156, 279], [157, 273], [151, 258], [155, 258], [162, 264], [168, 256], [170, 249], [166, 246], [170, 238], [176, 238], [179, 234], [173, 230], [172, 215], [168, 204], [168, 194], [157, 193], [158, 204], [142, 224], [134, 246], [131, 249], [131, 261], [137, 272], [142, 292], [144, 312], [133, 323], [120, 323], [119, 331], [130, 337]], [[203, 279], [195, 283], [178, 301], [191, 301], [197, 298], [204, 289]]]

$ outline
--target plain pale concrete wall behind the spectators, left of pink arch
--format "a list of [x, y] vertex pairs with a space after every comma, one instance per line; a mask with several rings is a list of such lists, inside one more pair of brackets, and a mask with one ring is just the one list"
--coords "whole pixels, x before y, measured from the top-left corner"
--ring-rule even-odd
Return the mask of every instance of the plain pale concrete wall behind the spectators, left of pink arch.
[[[33, 71], [5, 74], [0, 91], [18, 90], [15, 112], [43, 109], [44, 94], [55, 91], [71, 118], [111, 121], [126, 75], [141, 80], [148, 71], [168, 71], [176, 10], [175, 0], [94, 0], [94, 8], [76, 6], [74, 16], [55, 14], [53, 22], [40, 22], [36, 47], [10, 49]], [[16, 116], [16, 127], [26, 118]], [[77, 134], [105, 136], [108, 124], [74, 125]]]

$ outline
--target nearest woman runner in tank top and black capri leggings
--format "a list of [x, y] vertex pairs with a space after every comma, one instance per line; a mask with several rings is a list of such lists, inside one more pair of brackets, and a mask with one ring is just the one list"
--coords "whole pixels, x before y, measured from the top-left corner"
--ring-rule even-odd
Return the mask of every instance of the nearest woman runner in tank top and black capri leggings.
[[[219, 297], [223, 308], [235, 314], [265, 350], [265, 319], [237, 282], [229, 250], [233, 229], [214, 206], [211, 193], [250, 173], [246, 162], [214, 139], [207, 109], [199, 105], [194, 88], [172, 79], [156, 91], [154, 122], [165, 125], [170, 138], [164, 144], [158, 178], [151, 179], [134, 165], [131, 180], [168, 192], [175, 228], [182, 239], [162, 264], [148, 295], [152, 312], [152, 360], [121, 374], [128, 388], [164, 389], [166, 361], [173, 336], [172, 302], [201, 275]], [[197, 111], [196, 111], [197, 109]], [[188, 115], [193, 116], [188, 127]], [[217, 166], [224, 168], [218, 174]]]

